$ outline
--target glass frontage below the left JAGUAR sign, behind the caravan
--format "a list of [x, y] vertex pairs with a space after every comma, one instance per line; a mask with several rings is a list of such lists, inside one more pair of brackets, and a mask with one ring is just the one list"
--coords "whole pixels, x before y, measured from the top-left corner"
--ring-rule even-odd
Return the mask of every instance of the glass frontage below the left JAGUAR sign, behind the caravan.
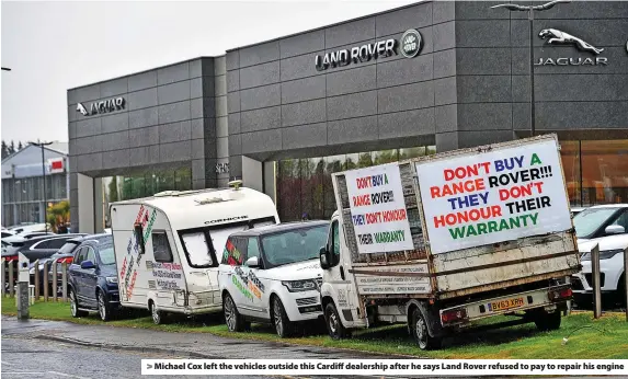
[[190, 168], [102, 177], [104, 227], [111, 228], [110, 203], [148, 197], [163, 191], [187, 190], [192, 190], [192, 169]]

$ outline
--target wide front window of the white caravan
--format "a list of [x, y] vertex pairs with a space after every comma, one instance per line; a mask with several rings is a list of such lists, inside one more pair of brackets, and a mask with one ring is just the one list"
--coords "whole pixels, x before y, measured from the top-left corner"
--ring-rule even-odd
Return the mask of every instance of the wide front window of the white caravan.
[[[192, 267], [213, 267], [218, 265], [219, 257], [222, 254], [229, 236], [238, 231], [247, 230], [251, 225], [253, 228], [260, 228], [274, 223], [276, 223], [274, 217], [269, 217], [250, 221], [224, 223], [216, 227], [180, 230], [179, 234], [185, 248], [187, 263], [190, 263]], [[212, 243], [207, 243], [207, 240], [212, 241]]]

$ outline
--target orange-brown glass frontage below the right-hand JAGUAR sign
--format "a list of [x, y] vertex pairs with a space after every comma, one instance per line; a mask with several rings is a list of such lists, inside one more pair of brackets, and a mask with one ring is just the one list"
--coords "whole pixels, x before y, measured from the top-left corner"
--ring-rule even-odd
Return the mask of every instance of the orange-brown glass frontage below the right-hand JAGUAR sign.
[[628, 139], [561, 141], [571, 206], [628, 202]]

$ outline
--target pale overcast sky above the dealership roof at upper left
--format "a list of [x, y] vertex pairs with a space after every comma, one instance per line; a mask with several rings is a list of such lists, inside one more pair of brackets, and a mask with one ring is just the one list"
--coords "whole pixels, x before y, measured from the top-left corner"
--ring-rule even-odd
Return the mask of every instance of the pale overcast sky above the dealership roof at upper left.
[[68, 140], [67, 90], [410, 1], [2, 1], [2, 139]]

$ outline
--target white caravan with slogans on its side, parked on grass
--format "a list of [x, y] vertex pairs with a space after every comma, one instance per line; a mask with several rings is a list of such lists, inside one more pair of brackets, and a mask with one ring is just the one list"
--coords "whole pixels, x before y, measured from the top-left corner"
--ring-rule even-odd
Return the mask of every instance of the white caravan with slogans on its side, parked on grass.
[[123, 307], [164, 313], [222, 310], [218, 264], [229, 234], [279, 222], [273, 200], [250, 188], [164, 192], [110, 206]]

